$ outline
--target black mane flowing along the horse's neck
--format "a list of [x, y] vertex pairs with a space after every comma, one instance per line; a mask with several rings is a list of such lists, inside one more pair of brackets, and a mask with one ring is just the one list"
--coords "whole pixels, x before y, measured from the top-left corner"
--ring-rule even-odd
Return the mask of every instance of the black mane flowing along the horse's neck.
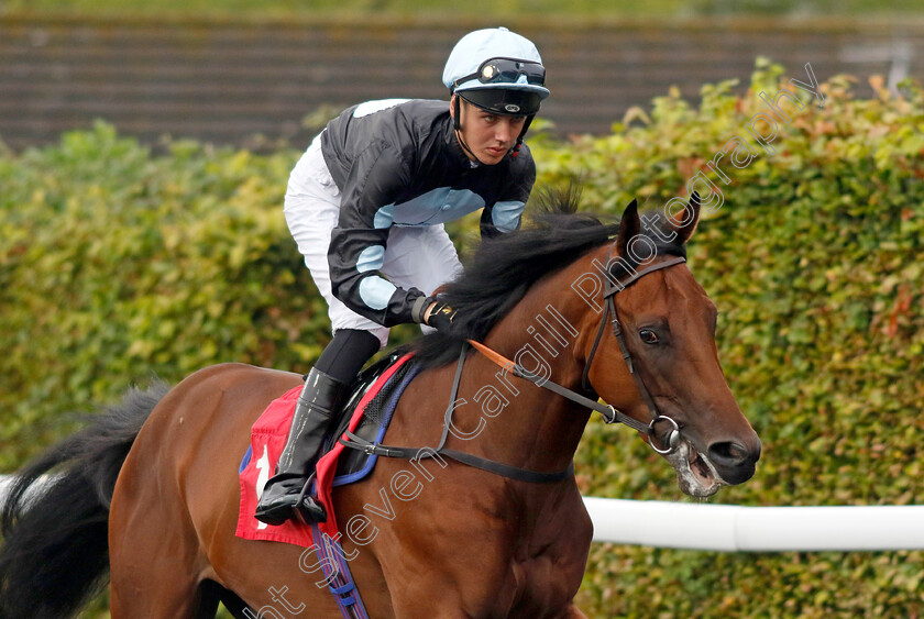
[[[619, 223], [602, 223], [576, 212], [580, 189], [547, 192], [522, 229], [485, 239], [459, 279], [440, 292], [455, 311], [450, 333], [437, 332], [410, 344], [417, 363], [437, 367], [455, 361], [468, 339], [482, 341], [539, 279], [572, 264], [581, 255], [613, 242]], [[682, 253], [656, 236], [659, 254]]]

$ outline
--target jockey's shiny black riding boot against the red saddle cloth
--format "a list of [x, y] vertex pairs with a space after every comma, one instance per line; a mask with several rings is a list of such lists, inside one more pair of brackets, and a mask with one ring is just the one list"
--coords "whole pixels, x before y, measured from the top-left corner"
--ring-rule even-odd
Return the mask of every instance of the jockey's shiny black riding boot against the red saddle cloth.
[[[327, 520], [324, 508], [307, 495], [305, 486], [321, 450], [331, 417], [339, 408], [349, 385], [312, 368], [292, 419], [286, 449], [276, 464], [276, 474], [266, 482], [256, 506], [256, 519], [282, 524], [295, 516], [306, 522]], [[299, 500], [300, 499], [300, 500]]]

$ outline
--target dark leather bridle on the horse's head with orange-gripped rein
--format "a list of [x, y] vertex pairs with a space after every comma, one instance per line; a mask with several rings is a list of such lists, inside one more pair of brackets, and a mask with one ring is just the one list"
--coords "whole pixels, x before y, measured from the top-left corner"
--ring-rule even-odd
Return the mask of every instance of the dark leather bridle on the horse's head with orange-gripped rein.
[[[573, 402], [576, 402], [581, 406], [600, 412], [603, 416], [603, 420], [605, 423], [624, 423], [625, 425], [628, 425], [629, 428], [632, 428], [634, 430], [646, 434], [648, 436], [648, 444], [651, 445], [651, 449], [653, 449], [660, 454], [669, 454], [673, 452], [680, 444], [680, 425], [678, 425], [676, 421], [674, 421], [667, 414], [661, 414], [661, 411], [658, 410], [658, 406], [654, 404], [651, 394], [645, 386], [645, 382], [641, 379], [641, 376], [639, 376], [639, 374], [636, 372], [635, 364], [632, 363], [632, 355], [629, 352], [628, 346], [626, 345], [625, 330], [623, 329], [623, 324], [619, 322], [619, 314], [616, 311], [615, 297], [620, 291], [625, 290], [639, 279], [648, 275], [649, 273], [654, 273], [656, 270], [661, 270], [662, 268], [668, 268], [685, 262], [686, 258], [684, 258], [683, 256], [672, 256], [669, 259], [641, 268], [639, 270], [632, 270], [631, 275], [625, 280], [616, 280], [616, 283], [613, 283], [609, 280], [609, 278], [606, 278], [606, 285], [603, 291], [603, 317], [601, 317], [600, 328], [597, 329], [596, 338], [594, 338], [593, 346], [591, 346], [591, 354], [587, 356], [587, 363], [584, 365], [584, 374], [581, 377], [581, 385], [583, 389], [587, 393], [594, 394], [593, 387], [591, 386], [588, 378], [591, 365], [594, 362], [597, 347], [600, 346], [600, 342], [603, 339], [603, 333], [606, 330], [606, 319], [608, 316], [612, 316], [609, 323], [613, 328], [613, 334], [616, 336], [616, 342], [619, 344], [619, 352], [623, 353], [623, 358], [626, 361], [629, 374], [631, 374], [635, 378], [636, 388], [638, 388], [638, 391], [639, 394], [641, 394], [641, 397], [645, 400], [648, 410], [651, 412], [651, 421], [649, 421], [648, 423], [638, 421], [629, 417], [628, 414], [616, 410], [610, 405], [602, 405], [598, 401], [582, 396], [581, 394], [572, 389], [562, 387], [561, 385], [558, 385], [557, 383], [553, 383], [548, 378], [543, 379], [539, 376], [536, 376], [535, 374], [525, 369], [522, 366], [514, 363], [513, 361], [509, 361], [508, 358], [488, 349], [480, 342], [469, 340], [469, 343], [472, 346], [474, 346], [475, 350], [477, 350], [480, 353], [493, 361], [495, 364], [509, 371], [514, 376], [526, 378], [527, 380], [535, 383], [539, 387], [549, 389], [550, 391], [553, 391], [564, 398], [568, 398]], [[654, 444], [654, 436], [657, 435], [654, 432], [654, 425], [661, 421], [666, 421], [672, 427], [668, 433], [667, 440], [664, 441], [667, 446], [663, 449]]]

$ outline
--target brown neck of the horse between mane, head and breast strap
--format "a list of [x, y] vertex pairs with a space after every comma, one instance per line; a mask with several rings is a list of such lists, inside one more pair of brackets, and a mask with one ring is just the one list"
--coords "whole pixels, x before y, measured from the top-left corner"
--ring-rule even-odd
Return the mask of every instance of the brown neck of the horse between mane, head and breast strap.
[[[534, 374], [580, 389], [582, 314], [561, 300], [561, 286], [547, 287], [530, 290], [485, 343]], [[455, 449], [542, 472], [571, 463], [588, 419], [586, 409], [505, 373], [479, 353], [470, 353], [466, 367], [460, 390], [465, 404], [455, 410], [455, 425], [464, 429], [460, 434], [472, 435], [461, 440], [457, 434]]]

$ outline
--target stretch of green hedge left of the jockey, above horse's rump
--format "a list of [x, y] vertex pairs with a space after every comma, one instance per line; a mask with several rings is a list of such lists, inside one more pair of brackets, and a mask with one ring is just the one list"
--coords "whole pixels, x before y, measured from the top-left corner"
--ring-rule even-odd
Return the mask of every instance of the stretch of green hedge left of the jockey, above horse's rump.
[[292, 163], [105, 124], [0, 159], [0, 466], [153, 374], [304, 367], [326, 312], [279, 217]]

